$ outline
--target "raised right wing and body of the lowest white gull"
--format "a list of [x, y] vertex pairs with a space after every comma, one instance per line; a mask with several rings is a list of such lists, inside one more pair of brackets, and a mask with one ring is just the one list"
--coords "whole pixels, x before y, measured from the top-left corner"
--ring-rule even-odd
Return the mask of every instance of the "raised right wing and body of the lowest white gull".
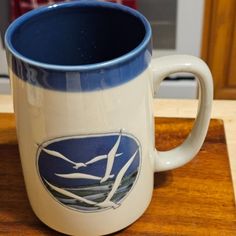
[[[117, 174], [117, 177], [115, 179], [115, 182], [113, 184], [113, 187], [111, 189], [111, 191], [109, 192], [108, 196], [106, 197], [106, 199], [101, 202], [98, 203], [97, 206], [100, 207], [108, 207], [108, 206], [112, 206], [112, 201], [111, 198], [113, 197], [113, 195], [115, 194], [116, 190], [118, 189], [118, 187], [120, 186], [121, 180], [125, 174], [125, 172], [128, 170], [128, 168], [130, 167], [130, 165], [132, 164], [136, 154], [137, 154], [138, 150], [136, 150], [136, 152], [133, 154], [133, 156], [126, 162], [126, 164], [122, 167], [122, 169], [120, 170], [120, 172]], [[114, 203], [115, 204], [115, 203]], [[113, 205], [113, 208], [118, 207], [118, 204]]]

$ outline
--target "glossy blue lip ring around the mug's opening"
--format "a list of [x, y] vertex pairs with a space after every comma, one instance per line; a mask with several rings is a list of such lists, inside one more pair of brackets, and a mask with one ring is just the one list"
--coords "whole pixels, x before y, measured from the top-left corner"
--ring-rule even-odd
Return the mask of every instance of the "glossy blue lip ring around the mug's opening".
[[[104, 62], [99, 62], [99, 63], [94, 63], [94, 64], [86, 64], [86, 65], [56, 65], [56, 64], [49, 64], [49, 63], [43, 63], [43, 62], [38, 62], [36, 60], [29, 59], [19, 53], [13, 46], [12, 44], [12, 36], [15, 32], [15, 30], [21, 26], [23, 23], [27, 22], [27, 20], [30, 20], [32, 17], [43, 14], [48, 11], [53, 11], [54, 8], [68, 8], [68, 7], [73, 7], [73, 6], [99, 6], [103, 8], [110, 8], [110, 9], [116, 9], [123, 11], [127, 14], [135, 16], [138, 20], [141, 20], [143, 23], [143, 26], [145, 28], [145, 36], [143, 40], [140, 42], [140, 44], [131, 50], [130, 52], [108, 60]], [[66, 2], [66, 3], [59, 3], [59, 4], [53, 4], [49, 6], [43, 6], [39, 7], [35, 10], [32, 10], [19, 18], [17, 18], [15, 21], [13, 21], [10, 26], [8, 27], [6, 34], [5, 34], [5, 46], [7, 49], [18, 59], [21, 61], [24, 61], [26, 63], [29, 63], [33, 66], [41, 67], [44, 69], [50, 69], [50, 70], [58, 70], [58, 71], [89, 71], [89, 70], [98, 70], [98, 69], [105, 69], [113, 66], [117, 66], [118, 64], [123, 64], [126, 63], [129, 60], [132, 60], [135, 58], [139, 53], [143, 52], [146, 50], [147, 45], [149, 44], [151, 40], [151, 26], [148, 22], [148, 20], [138, 11], [126, 7], [121, 4], [117, 3], [111, 3], [111, 2], [98, 2], [98, 1], [92, 1], [92, 2]]]

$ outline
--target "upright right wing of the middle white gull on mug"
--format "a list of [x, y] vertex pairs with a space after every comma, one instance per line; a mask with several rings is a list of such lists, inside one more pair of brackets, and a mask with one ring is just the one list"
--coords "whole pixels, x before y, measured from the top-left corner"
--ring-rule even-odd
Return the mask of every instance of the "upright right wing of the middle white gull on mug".
[[105, 172], [105, 175], [103, 176], [103, 178], [101, 179], [100, 183], [103, 183], [106, 180], [108, 180], [108, 178], [109, 178], [109, 176], [111, 174], [113, 163], [114, 163], [114, 159], [115, 159], [115, 156], [116, 156], [116, 152], [117, 152], [118, 147], [120, 145], [121, 136], [122, 136], [122, 133], [120, 132], [120, 135], [119, 135], [115, 145], [112, 147], [110, 152], [107, 154], [106, 172]]

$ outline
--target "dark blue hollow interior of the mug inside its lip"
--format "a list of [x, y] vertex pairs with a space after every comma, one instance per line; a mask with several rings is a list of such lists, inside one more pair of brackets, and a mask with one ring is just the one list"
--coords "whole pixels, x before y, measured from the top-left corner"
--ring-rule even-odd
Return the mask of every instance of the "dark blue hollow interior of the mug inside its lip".
[[45, 8], [14, 28], [11, 45], [30, 60], [54, 65], [87, 65], [118, 58], [135, 49], [146, 30], [138, 16], [113, 5]]

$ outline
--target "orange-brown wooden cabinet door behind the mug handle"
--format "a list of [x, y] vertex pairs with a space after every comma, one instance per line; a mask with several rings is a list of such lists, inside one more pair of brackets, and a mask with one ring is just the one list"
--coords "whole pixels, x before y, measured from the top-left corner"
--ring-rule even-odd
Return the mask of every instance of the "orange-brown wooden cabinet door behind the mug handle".
[[214, 79], [214, 98], [236, 99], [236, 1], [205, 0], [202, 58]]

